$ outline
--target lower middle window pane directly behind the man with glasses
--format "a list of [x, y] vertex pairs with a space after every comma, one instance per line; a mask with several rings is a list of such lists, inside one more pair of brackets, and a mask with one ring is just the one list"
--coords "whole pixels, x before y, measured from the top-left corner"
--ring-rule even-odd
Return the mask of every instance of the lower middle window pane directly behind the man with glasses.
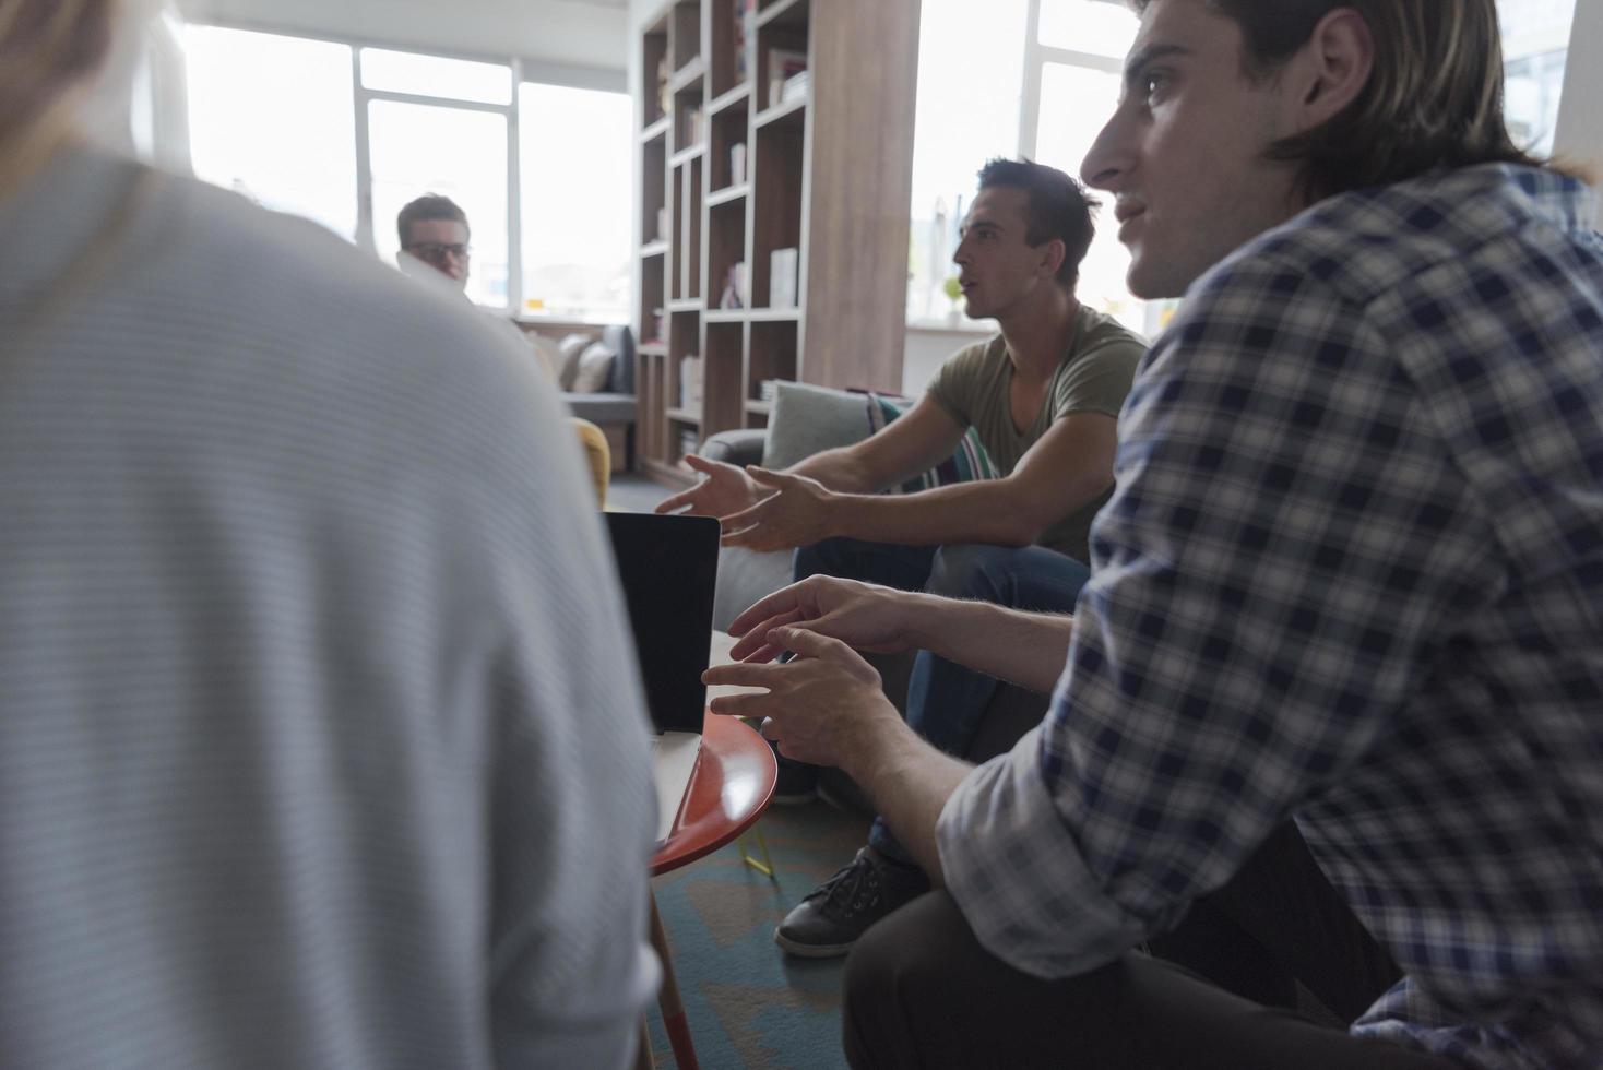
[[396, 215], [423, 194], [455, 200], [468, 215], [473, 261], [468, 296], [507, 308], [507, 117], [460, 107], [372, 101], [373, 245], [396, 263]]

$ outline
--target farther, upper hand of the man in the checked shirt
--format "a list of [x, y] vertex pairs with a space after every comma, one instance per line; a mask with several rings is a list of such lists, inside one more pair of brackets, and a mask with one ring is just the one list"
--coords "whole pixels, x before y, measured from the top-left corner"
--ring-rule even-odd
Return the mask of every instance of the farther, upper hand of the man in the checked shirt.
[[808, 577], [774, 591], [729, 623], [737, 642], [729, 650], [741, 662], [773, 662], [782, 647], [769, 641], [776, 628], [811, 631], [840, 639], [854, 650], [906, 650], [917, 596], [837, 577]]

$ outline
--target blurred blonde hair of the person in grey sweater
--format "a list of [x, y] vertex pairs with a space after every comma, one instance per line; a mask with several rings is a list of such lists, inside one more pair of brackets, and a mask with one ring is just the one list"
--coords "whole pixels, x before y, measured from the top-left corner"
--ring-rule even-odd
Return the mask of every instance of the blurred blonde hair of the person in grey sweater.
[[0, 194], [69, 135], [111, 51], [117, 0], [0, 0]]

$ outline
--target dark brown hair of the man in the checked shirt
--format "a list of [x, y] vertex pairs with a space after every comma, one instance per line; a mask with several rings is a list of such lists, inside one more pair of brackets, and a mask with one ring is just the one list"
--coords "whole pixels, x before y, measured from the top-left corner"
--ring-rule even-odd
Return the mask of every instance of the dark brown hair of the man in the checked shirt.
[[[1153, 0], [1129, 0], [1137, 13]], [[1274, 77], [1330, 11], [1369, 24], [1369, 85], [1330, 122], [1270, 147], [1302, 163], [1310, 199], [1385, 186], [1441, 167], [1539, 165], [1504, 123], [1494, 0], [1207, 0], [1244, 38], [1242, 72]]]

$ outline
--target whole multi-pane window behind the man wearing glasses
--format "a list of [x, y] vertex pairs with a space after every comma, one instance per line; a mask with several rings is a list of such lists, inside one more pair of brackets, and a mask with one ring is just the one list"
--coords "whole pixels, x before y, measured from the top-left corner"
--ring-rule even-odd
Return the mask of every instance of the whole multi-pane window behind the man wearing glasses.
[[388, 264], [401, 207], [444, 194], [473, 231], [470, 298], [625, 316], [625, 93], [523, 82], [515, 59], [208, 26], [186, 27], [183, 43], [199, 178], [316, 219]]

